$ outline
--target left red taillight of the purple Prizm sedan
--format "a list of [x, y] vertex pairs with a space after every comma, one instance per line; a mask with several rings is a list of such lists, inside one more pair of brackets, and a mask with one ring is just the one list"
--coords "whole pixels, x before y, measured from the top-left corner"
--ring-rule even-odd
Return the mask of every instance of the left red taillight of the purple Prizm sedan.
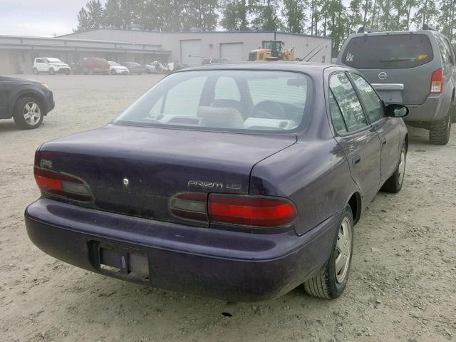
[[83, 202], [90, 202], [92, 199], [88, 185], [76, 177], [40, 167], [34, 167], [33, 173], [36, 184], [44, 194]]

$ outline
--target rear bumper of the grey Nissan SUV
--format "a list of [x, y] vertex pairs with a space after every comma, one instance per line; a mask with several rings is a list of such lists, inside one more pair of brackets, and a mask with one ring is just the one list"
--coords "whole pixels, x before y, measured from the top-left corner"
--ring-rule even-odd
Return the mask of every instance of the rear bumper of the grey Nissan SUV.
[[420, 121], [432, 123], [445, 119], [450, 110], [451, 98], [445, 98], [443, 94], [430, 95], [422, 105], [407, 105], [408, 115], [404, 118], [405, 123]]

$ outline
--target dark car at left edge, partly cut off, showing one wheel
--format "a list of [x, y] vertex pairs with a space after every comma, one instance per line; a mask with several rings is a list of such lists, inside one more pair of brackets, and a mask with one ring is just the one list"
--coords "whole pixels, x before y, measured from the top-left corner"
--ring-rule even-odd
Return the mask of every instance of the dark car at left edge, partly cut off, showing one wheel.
[[53, 93], [40, 81], [0, 76], [0, 119], [14, 118], [19, 128], [38, 128], [54, 108]]

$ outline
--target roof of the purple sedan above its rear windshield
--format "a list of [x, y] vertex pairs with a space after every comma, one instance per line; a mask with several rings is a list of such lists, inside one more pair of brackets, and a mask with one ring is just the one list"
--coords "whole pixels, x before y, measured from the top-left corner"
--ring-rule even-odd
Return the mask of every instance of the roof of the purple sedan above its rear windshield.
[[354, 70], [346, 66], [337, 66], [329, 63], [309, 63], [309, 62], [285, 62], [285, 61], [265, 61], [265, 62], [242, 62], [242, 63], [222, 63], [207, 64], [194, 68], [186, 68], [177, 73], [198, 70], [264, 70], [264, 71], [295, 71], [308, 73], [311, 75], [321, 75], [327, 68], [334, 70]]

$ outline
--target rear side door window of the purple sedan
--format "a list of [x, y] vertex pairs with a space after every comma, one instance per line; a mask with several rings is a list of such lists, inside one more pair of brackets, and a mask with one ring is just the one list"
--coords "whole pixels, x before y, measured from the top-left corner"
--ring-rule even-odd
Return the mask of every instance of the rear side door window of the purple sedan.
[[348, 132], [366, 127], [368, 124], [363, 113], [363, 108], [346, 74], [337, 73], [331, 76], [329, 88], [331, 88], [334, 98], [339, 108], [341, 108]]

